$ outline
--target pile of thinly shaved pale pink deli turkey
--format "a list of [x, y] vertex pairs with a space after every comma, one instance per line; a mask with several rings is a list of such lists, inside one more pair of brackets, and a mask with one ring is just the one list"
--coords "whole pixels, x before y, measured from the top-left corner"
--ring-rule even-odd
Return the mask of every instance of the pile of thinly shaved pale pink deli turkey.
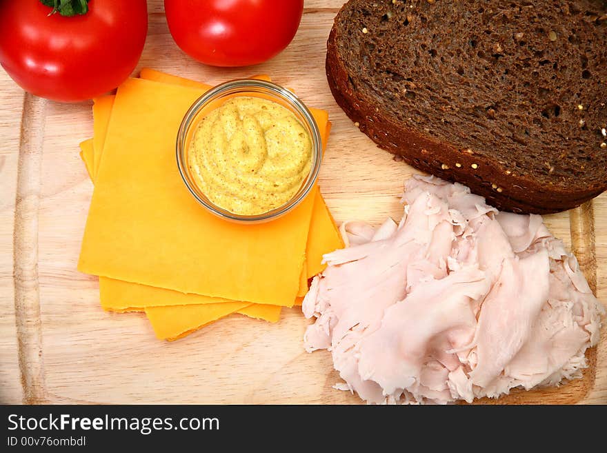
[[347, 248], [304, 299], [306, 350], [326, 349], [369, 403], [471, 402], [581, 376], [601, 314], [575, 256], [538, 215], [414, 177], [404, 217], [342, 225]]

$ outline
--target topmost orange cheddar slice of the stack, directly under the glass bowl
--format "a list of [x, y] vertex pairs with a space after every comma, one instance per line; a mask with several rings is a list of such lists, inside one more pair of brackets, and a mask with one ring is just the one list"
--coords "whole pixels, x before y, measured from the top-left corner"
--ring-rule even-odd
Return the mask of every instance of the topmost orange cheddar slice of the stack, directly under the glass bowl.
[[199, 89], [141, 79], [121, 85], [79, 270], [233, 301], [292, 305], [314, 197], [259, 225], [229, 223], [202, 210], [183, 186], [173, 152], [183, 114], [200, 95]]

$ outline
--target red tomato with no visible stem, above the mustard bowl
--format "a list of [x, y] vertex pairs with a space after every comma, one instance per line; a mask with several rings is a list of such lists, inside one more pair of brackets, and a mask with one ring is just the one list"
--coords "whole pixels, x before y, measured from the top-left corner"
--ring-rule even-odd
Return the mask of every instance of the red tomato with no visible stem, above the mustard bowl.
[[164, 0], [177, 46], [212, 66], [266, 61], [292, 41], [304, 0]]

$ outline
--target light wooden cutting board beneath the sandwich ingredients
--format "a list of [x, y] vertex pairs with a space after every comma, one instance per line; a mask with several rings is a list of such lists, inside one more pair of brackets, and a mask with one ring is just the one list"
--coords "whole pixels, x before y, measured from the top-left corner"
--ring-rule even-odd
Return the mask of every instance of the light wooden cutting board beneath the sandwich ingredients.
[[[330, 94], [325, 46], [341, 3], [307, 0], [287, 50], [254, 68], [226, 70], [183, 54], [163, 1], [150, 0], [139, 68], [208, 83], [266, 73], [328, 110], [321, 190], [338, 223], [378, 225], [400, 219], [399, 194], [415, 170], [377, 149]], [[37, 99], [0, 70], [0, 403], [359, 403], [332, 389], [339, 376], [330, 354], [304, 352], [308, 321], [297, 308], [275, 325], [229, 316], [174, 343], [155, 339], [143, 314], [103, 312], [97, 278], [76, 270], [92, 194], [78, 143], [91, 136], [90, 103]], [[606, 301], [607, 194], [545, 221]], [[605, 336], [582, 381], [503, 401], [607, 403]]]

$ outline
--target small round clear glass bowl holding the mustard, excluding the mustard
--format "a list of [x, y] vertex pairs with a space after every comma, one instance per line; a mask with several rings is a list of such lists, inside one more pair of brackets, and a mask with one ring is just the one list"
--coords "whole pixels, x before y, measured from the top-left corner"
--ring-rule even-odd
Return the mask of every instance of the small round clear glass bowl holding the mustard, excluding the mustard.
[[[310, 135], [310, 141], [312, 143], [312, 165], [310, 166], [310, 172], [308, 177], [301, 183], [301, 187], [295, 193], [295, 195], [283, 205], [278, 206], [262, 214], [255, 215], [241, 215], [235, 214], [219, 206], [215, 205], [208, 197], [200, 190], [195, 179], [192, 177], [190, 170], [188, 152], [190, 148], [190, 141], [194, 135], [197, 125], [203, 117], [209, 114], [215, 108], [218, 108], [227, 99], [233, 97], [245, 96], [245, 97], [261, 97], [263, 99], [269, 99], [279, 103], [283, 107], [287, 108], [295, 114], [295, 117], [299, 122], [304, 125], [308, 134]], [[239, 223], [261, 223], [272, 221], [277, 219], [290, 210], [294, 209], [301, 201], [308, 197], [310, 190], [314, 187], [318, 178], [318, 172], [320, 170], [320, 163], [322, 159], [322, 142], [318, 125], [310, 113], [310, 110], [304, 105], [303, 102], [295, 96], [292, 92], [286, 88], [271, 83], [256, 79], [239, 79], [233, 80], [221, 85], [217, 85], [205, 94], [203, 94], [195, 103], [192, 104], [186, 115], [181, 121], [179, 132], [177, 133], [177, 166], [179, 173], [183, 179], [183, 183], [186, 184], [186, 188], [190, 191], [192, 196], [200, 203], [206, 210], [215, 214], [222, 219], [228, 221], [234, 221]]]

